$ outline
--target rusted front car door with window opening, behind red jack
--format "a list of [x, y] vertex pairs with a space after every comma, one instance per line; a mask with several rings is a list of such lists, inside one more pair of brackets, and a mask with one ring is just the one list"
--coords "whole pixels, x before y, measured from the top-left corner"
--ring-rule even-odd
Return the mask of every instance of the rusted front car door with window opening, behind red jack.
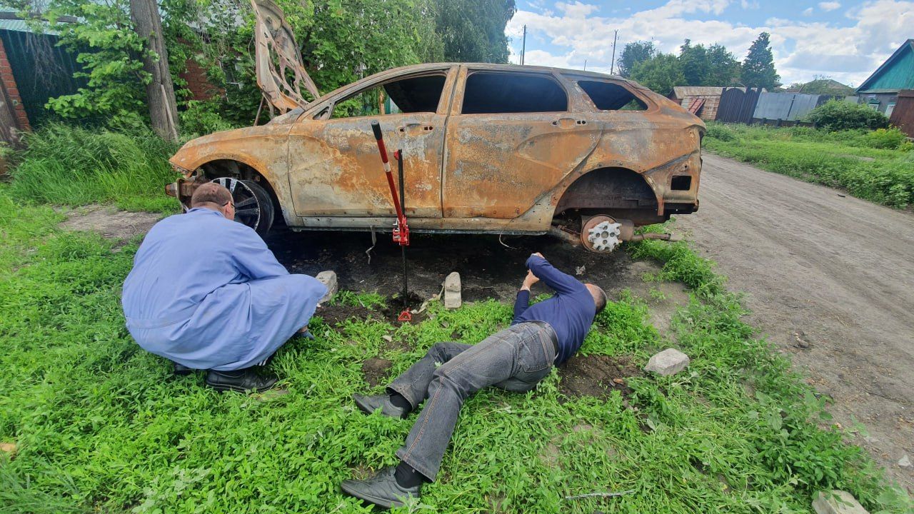
[[[401, 149], [409, 216], [441, 218], [444, 129], [457, 67], [369, 80], [304, 115], [289, 134], [289, 179], [301, 217], [387, 217], [390, 198], [371, 122], [384, 134], [390, 164]], [[392, 111], [392, 112], [391, 112]]]

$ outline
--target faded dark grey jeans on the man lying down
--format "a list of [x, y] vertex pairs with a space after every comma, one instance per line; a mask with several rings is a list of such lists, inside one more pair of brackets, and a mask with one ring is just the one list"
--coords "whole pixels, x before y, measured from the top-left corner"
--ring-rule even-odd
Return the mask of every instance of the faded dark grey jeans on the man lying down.
[[425, 357], [388, 386], [413, 409], [428, 400], [397, 456], [434, 481], [463, 401], [492, 385], [506, 391], [532, 390], [552, 369], [555, 337], [548, 324], [527, 322], [476, 345], [436, 343], [429, 348]]

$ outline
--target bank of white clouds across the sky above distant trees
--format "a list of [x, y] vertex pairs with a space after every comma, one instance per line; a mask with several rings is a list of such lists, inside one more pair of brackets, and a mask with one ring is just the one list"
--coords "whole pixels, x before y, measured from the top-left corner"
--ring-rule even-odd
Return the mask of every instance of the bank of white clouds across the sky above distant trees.
[[[829, 3], [820, 6], [824, 4]], [[670, 0], [630, 15], [603, 17], [596, 15], [595, 5], [576, 1], [557, 4], [558, 14], [518, 11], [505, 32], [519, 51], [526, 24], [526, 64], [579, 69], [587, 59], [588, 70], [609, 70], [613, 29], [619, 30], [617, 57], [625, 43], [638, 40], [653, 40], [662, 51], [677, 53], [688, 37], [694, 44], [722, 44], [737, 59], [743, 59], [752, 41], [767, 31], [782, 82], [827, 75], [859, 84], [911, 37], [909, 27], [914, 27], [914, 1], [909, 0], [867, 1], [846, 13], [850, 27], [783, 18], [770, 18], [750, 27], [713, 19], [728, 5], [729, 0]], [[811, 9], [807, 9], [809, 14]], [[802, 14], [806, 16], [807, 11]], [[531, 35], [558, 49], [530, 50]]]

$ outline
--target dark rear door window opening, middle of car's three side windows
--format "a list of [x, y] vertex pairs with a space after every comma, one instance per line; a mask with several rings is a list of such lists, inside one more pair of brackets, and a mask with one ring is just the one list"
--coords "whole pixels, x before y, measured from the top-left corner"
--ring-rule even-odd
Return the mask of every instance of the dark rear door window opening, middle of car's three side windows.
[[463, 114], [564, 111], [568, 95], [552, 78], [491, 71], [475, 71], [466, 78]]

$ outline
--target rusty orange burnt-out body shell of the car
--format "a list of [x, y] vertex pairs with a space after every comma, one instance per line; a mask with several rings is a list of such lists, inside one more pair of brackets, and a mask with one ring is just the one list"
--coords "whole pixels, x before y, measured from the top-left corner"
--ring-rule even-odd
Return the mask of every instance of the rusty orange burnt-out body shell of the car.
[[[259, 67], [261, 60], [259, 56]], [[481, 71], [547, 79], [567, 95], [567, 110], [464, 114], [467, 78]], [[332, 116], [339, 102], [356, 94], [429, 77], [443, 81], [433, 112]], [[579, 80], [617, 84], [646, 109], [600, 111]], [[292, 97], [278, 98], [286, 102]], [[270, 186], [292, 229], [388, 230], [395, 212], [377, 166], [370, 129], [370, 121], [377, 119], [390, 151], [403, 151], [406, 212], [414, 231], [546, 233], [557, 215], [575, 212], [643, 225], [698, 205], [704, 123], [675, 102], [619, 77], [435, 63], [384, 71], [311, 103], [292, 101], [284, 105], [302, 108], [263, 126], [193, 140], [171, 162], [186, 177], [227, 172], [213, 162], [250, 166]], [[674, 177], [690, 180], [680, 179], [674, 189]]]

